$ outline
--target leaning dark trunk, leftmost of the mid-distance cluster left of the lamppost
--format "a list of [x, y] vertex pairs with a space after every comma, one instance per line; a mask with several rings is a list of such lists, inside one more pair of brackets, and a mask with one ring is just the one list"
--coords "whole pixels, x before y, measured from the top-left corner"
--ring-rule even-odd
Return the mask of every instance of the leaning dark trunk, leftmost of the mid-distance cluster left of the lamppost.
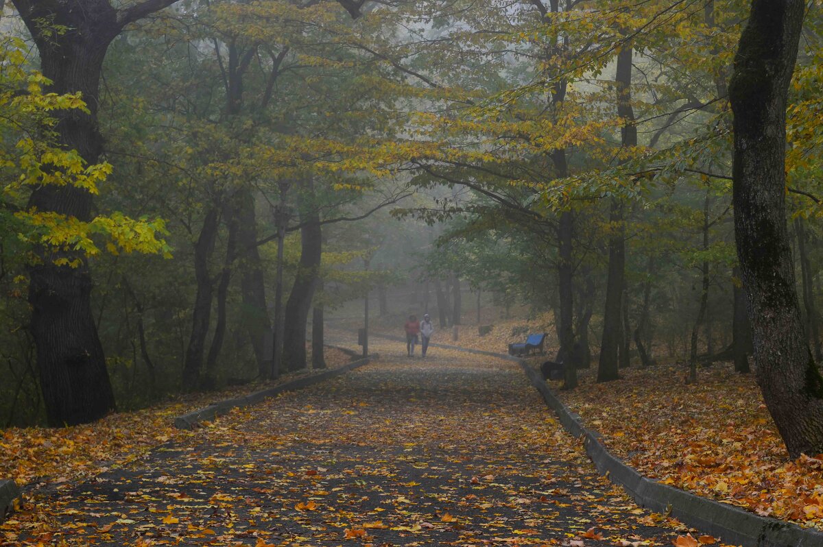
[[203, 351], [206, 347], [206, 337], [212, 317], [214, 286], [212, 276], [208, 271], [208, 261], [214, 250], [217, 225], [217, 209], [212, 207], [203, 219], [198, 242], [194, 244], [194, 277], [197, 280], [198, 289], [194, 297], [192, 332], [188, 338], [183, 364], [183, 389], [188, 391], [193, 391], [200, 385]]

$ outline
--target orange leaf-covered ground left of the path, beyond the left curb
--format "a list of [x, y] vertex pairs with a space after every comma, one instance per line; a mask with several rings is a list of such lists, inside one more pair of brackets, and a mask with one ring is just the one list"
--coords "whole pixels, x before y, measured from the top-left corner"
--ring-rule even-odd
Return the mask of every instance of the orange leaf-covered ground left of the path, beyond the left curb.
[[[340, 350], [328, 349], [326, 360], [328, 366], [334, 368], [346, 364], [350, 358]], [[151, 408], [115, 413], [94, 424], [62, 429], [0, 429], [0, 479], [13, 479], [21, 486], [54, 486], [96, 475], [184, 434], [172, 426], [174, 416], [214, 401], [272, 387], [295, 376], [221, 392], [180, 396]]]

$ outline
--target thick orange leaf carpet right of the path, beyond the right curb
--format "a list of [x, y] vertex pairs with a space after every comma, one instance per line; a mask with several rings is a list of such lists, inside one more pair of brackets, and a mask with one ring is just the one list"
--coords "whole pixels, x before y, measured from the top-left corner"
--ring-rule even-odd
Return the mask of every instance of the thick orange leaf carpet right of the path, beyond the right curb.
[[751, 374], [716, 364], [686, 386], [684, 372], [624, 369], [623, 379], [597, 384], [584, 371], [560, 396], [644, 475], [823, 529], [823, 454], [788, 461]]

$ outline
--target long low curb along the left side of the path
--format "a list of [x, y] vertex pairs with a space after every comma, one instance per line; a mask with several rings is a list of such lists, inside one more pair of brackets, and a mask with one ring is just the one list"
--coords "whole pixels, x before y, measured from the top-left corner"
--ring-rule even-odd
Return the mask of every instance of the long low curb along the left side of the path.
[[371, 359], [377, 359], [379, 355], [374, 354], [365, 359], [358, 359], [346, 363], [337, 369], [324, 370], [322, 373], [312, 374], [303, 378], [296, 378], [291, 382], [283, 383], [279, 386], [268, 387], [259, 392], [250, 393], [247, 396], [235, 397], [234, 399], [226, 399], [225, 401], [218, 401], [212, 405], [204, 408], [193, 410], [187, 414], [180, 415], [174, 418], [174, 427], [177, 429], [197, 429], [201, 422], [215, 420], [217, 416], [228, 414], [233, 408], [243, 408], [244, 406], [257, 405], [259, 402], [280, 395], [284, 392], [293, 392], [297, 389], [313, 386], [315, 383], [323, 382], [329, 378], [335, 378], [341, 374], [345, 374], [350, 370], [358, 369], [365, 364], [368, 364]]

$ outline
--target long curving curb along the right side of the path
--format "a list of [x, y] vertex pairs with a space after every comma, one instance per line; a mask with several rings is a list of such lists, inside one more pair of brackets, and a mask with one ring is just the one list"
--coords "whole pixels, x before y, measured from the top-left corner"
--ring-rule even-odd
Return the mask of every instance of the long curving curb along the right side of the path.
[[[399, 336], [382, 337], [401, 340]], [[476, 355], [489, 355], [519, 364], [532, 382], [532, 386], [542, 395], [546, 406], [554, 410], [563, 428], [574, 437], [583, 438], [586, 453], [597, 467], [597, 471], [605, 475], [613, 484], [621, 486], [640, 507], [649, 508], [654, 512], [668, 513], [686, 526], [714, 535], [723, 543], [738, 544], [744, 547], [821, 547], [823, 545], [823, 532], [802, 528], [793, 522], [760, 517], [760, 515], [734, 505], [704, 498], [640, 475], [635, 468], [626, 465], [603, 446], [601, 434], [584, 426], [580, 416], [557, 398], [551, 391], [551, 387], [543, 380], [542, 374], [530, 366], [526, 359], [458, 345], [434, 343], [430, 345]]]

